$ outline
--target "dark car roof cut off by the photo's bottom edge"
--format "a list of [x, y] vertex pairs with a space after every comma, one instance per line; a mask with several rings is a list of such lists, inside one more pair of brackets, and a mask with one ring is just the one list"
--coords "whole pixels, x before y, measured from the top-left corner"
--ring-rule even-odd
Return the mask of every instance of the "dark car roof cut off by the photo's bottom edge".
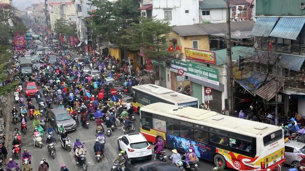
[[139, 171], [181, 171], [181, 169], [173, 163], [154, 162], [148, 163], [140, 167]]

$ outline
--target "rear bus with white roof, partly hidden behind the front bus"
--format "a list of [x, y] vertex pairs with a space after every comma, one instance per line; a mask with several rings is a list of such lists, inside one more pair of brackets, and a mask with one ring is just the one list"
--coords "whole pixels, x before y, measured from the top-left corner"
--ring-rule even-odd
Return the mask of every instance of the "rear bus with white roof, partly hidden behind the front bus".
[[191, 106], [199, 108], [198, 98], [178, 93], [154, 84], [132, 86], [132, 98], [133, 110], [135, 112], [138, 112], [139, 108], [155, 102], [165, 102], [177, 106]]

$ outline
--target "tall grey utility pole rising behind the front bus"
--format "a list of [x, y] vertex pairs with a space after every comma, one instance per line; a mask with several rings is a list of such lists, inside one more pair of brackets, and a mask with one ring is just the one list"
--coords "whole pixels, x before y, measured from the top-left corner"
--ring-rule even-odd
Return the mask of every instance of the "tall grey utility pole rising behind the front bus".
[[230, 26], [230, 0], [224, 0], [227, 4], [227, 91], [229, 113], [234, 110], [233, 82], [232, 82], [232, 53], [231, 53], [231, 26]]

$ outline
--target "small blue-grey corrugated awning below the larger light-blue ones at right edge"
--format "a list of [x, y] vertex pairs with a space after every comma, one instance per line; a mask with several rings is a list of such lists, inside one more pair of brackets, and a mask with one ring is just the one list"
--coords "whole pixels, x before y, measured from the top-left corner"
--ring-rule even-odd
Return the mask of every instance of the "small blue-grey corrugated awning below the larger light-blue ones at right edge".
[[279, 64], [285, 69], [299, 71], [303, 65], [305, 57], [295, 55], [282, 55]]

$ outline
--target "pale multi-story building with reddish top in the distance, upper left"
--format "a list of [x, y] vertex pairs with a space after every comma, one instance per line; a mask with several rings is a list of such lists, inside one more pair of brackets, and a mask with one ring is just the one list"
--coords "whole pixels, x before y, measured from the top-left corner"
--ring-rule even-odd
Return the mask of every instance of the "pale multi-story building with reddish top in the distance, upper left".
[[63, 18], [67, 23], [75, 23], [75, 6], [69, 0], [48, 1], [51, 30], [54, 30], [56, 19]]

